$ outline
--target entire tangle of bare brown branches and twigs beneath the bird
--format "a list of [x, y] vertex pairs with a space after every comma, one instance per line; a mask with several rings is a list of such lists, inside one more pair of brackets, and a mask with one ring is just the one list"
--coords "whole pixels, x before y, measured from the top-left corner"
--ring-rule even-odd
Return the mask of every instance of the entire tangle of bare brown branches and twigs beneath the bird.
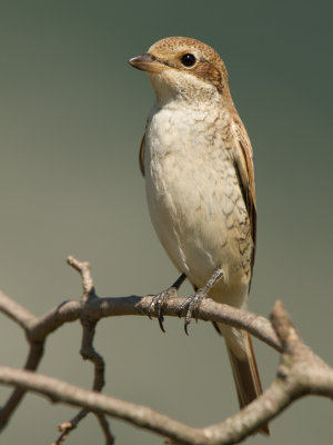
[[[97, 323], [103, 317], [120, 315], [148, 315], [152, 297], [99, 298], [88, 263], [69, 257], [68, 263], [82, 278], [80, 300], [63, 301], [44, 316], [37, 318], [27, 309], [0, 293], [0, 312], [21, 326], [30, 345], [23, 370], [0, 366], [0, 383], [16, 386], [7, 404], [0, 409], [0, 428], [3, 427], [27, 390], [42, 394], [53, 402], [79, 406], [80, 413], [63, 423], [60, 444], [71, 429], [93, 412], [102, 427], [107, 444], [113, 443], [105, 415], [122, 418], [133, 425], [150, 429], [178, 444], [234, 444], [253, 433], [262, 423], [285, 409], [293, 400], [309, 394], [333, 398], [333, 369], [317, 357], [299, 337], [282, 304], [276, 301], [271, 322], [249, 312], [203, 300], [198, 312], [202, 320], [222, 322], [249, 330], [259, 339], [281, 353], [281, 364], [271, 386], [261, 397], [238, 414], [218, 425], [193, 428], [145, 406], [139, 406], [99, 394], [104, 385], [104, 362], [93, 348]], [[182, 298], [168, 301], [164, 315], [178, 316]], [[81, 320], [83, 326], [81, 355], [94, 365], [92, 392], [34, 373], [43, 355], [48, 335], [64, 323]]]

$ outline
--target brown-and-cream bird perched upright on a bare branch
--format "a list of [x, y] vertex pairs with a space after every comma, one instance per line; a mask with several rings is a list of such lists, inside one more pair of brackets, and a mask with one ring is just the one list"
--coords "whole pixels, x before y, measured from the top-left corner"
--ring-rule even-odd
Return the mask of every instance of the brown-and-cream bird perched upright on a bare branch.
[[[129, 63], [147, 71], [155, 102], [139, 164], [157, 235], [181, 273], [158, 294], [163, 307], [185, 280], [194, 294], [183, 308], [185, 332], [203, 298], [246, 309], [255, 256], [253, 150], [218, 52], [188, 37], [168, 37]], [[262, 394], [249, 333], [214, 324], [224, 337], [240, 407]], [[264, 424], [258, 433], [270, 434]]]

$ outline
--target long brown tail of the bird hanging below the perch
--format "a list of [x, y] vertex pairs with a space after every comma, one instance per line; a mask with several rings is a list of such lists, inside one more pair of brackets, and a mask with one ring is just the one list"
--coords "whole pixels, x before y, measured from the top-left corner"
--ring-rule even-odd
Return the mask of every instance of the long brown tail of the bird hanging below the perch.
[[[218, 328], [226, 343], [240, 407], [243, 408], [262, 394], [251, 336], [220, 323]], [[261, 425], [256, 433], [270, 435], [269, 424]]]

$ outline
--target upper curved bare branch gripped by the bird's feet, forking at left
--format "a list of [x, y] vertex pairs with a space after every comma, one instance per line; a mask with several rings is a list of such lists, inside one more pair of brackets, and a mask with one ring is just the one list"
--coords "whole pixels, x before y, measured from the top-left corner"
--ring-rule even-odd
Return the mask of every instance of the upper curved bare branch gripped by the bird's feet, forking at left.
[[[65, 323], [75, 322], [80, 318], [93, 322], [112, 316], [149, 315], [152, 296], [89, 297], [91, 294], [95, 296], [92, 279], [88, 275], [90, 273], [89, 264], [78, 261], [73, 257], [69, 258], [69, 263], [82, 276], [84, 281], [83, 294], [87, 295], [87, 298], [63, 301], [46, 315], [37, 318], [3, 293], [0, 293], [0, 312], [16, 320], [26, 330], [27, 339], [30, 344], [30, 358], [27, 360], [24, 369], [36, 370], [38, 368], [42, 358], [46, 338]], [[164, 315], [178, 317], [182, 304], [183, 298], [170, 299], [164, 308]], [[17, 310], [18, 314], [16, 313]], [[198, 310], [198, 319], [222, 322], [231, 326], [241, 327], [276, 350], [281, 350], [280, 340], [270, 322], [260, 315], [206, 299], [202, 301]], [[23, 389], [14, 389], [6, 405], [0, 409], [0, 431], [7, 425], [23, 395]]]

